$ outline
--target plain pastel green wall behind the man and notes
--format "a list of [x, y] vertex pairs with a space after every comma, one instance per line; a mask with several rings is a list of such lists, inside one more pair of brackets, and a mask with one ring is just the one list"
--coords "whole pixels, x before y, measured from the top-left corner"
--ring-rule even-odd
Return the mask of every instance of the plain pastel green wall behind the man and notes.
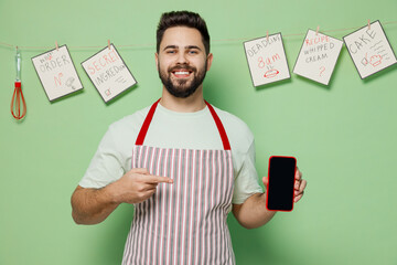
[[[162, 12], [183, 9], [208, 24], [214, 63], [205, 97], [251, 128], [259, 176], [271, 155], [289, 155], [308, 180], [293, 212], [260, 229], [245, 230], [229, 216], [237, 264], [396, 265], [396, 66], [362, 81], [344, 46], [329, 86], [291, 74], [255, 88], [243, 49], [267, 30], [281, 32], [292, 72], [308, 29], [396, 21], [396, 0], [0, 0], [0, 42], [67, 44], [84, 85], [50, 103], [31, 62], [49, 49], [22, 49], [28, 115], [15, 121], [14, 49], [0, 45], [0, 264], [120, 264], [132, 206], [119, 206], [101, 224], [76, 225], [69, 198], [109, 124], [161, 95], [157, 23]], [[329, 34], [342, 39], [354, 29]], [[397, 24], [384, 29], [396, 51]], [[108, 39], [139, 84], [105, 104], [81, 66], [99, 49], [76, 46], [105, 46]], [[136, 46], [118, 46], [125, 44]]]

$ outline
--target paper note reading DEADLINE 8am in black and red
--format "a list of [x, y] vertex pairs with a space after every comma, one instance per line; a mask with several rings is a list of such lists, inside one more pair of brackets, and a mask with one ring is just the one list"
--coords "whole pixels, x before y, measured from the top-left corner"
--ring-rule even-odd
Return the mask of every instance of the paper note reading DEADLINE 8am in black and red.
[[244, 42], [254, 86], [290, 78], [281, 33]]

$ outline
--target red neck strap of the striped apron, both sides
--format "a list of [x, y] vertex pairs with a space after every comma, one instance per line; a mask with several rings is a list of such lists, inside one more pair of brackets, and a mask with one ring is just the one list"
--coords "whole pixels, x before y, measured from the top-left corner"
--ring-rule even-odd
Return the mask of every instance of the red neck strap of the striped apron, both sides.
[[[161, 98], [160, 98], [161, 99]], [[136, 140], [136, 146], [142, 146], [143, 145], [143, 141], [144, 141], [144, 137], [148, 132], [148, 129], [149, 129], [149, 126], [150, 126], [150, 123], [153, 118], [153, 115], [154, 115], [154, 110], [160, 102], [160, 99], [158, 99], [149, 109], [149, 113], [143, 121], [143, 125], [139, 131], [139, 135], [137, 137], [137, 140]], [[223, 146], [224, 146], [224, 149], [225, 150], [230, 150], [230, 144], [228, 141], [228, 138], [227, 138], [227, 135], [226, 135], [226, 131], [225, 131], [225, 128], [223, 127], [223, 124], [219, 119], [219, 117], [217, 116], [215, 109], [213, 108], [213, 106], [211, 106], [210, 103], [207, 103], [206, 100], [204, 100], [205, 104], [207, 105], [208, 109], [210, 109], [210, 113], [211, 115], [213, 116], [214, 118], [214, 121], [216, 124], [216, 127], [219, 131], [219, 135], [221, 135], [221, 139], [222, 139], [222, 142], [223, 142]]]

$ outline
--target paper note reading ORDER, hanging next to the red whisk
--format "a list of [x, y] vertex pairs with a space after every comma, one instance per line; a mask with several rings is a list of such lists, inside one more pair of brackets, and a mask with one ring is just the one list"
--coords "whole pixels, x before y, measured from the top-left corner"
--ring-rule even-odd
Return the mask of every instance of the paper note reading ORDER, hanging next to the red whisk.
[[50, 102], [83, 89], [66, 45], [32, 57]]

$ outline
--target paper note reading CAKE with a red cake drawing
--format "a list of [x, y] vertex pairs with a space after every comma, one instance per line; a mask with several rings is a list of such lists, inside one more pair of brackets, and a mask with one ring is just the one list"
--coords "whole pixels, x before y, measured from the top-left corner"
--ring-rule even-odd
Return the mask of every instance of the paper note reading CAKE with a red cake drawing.
[[343, 38], [348, 53], [362, 80], [386, 67], [397, 60], [379, 21]]

